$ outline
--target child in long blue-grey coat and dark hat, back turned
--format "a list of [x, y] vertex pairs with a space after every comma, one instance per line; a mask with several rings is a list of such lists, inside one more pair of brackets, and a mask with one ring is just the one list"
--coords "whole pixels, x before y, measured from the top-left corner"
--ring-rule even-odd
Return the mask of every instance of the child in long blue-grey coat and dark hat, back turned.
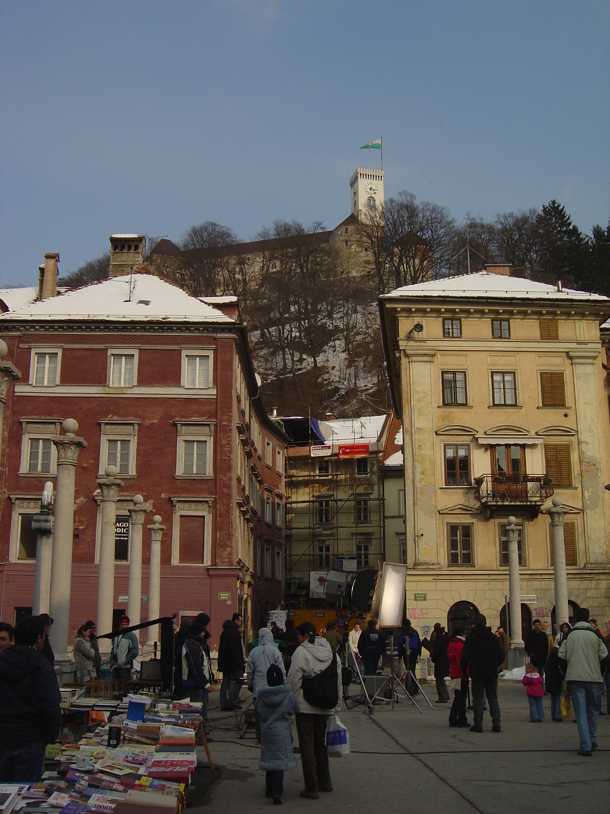
[[259, 768], [266, 772], [266, 796], [281, 803], [284, 772], [294, 768], [290, 716], [298, 712], [298, 702], [290, 687], [284, 685], [280, 667], [272, 664], [267, 671], [266, 687], [257, 690], [255, 709], [260, 716]]

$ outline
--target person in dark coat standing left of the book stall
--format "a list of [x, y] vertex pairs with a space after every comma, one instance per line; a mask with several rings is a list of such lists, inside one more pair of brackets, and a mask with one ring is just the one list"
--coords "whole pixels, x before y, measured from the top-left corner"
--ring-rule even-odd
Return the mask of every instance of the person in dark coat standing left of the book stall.
[[59, 736], [61, 694], [41, 654], [45, 626], [37, 616], [15, 626], [15, 644], [0, 652], [0, 783], [37, 783], [45, 747]]

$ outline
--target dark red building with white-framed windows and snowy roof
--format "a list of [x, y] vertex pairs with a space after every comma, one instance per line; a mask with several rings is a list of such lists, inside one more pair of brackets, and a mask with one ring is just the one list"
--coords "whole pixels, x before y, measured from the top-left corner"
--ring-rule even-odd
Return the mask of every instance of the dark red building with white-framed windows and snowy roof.
[[32, 606], [32, 517], [56, 473], [51, 438], [76, 418], [87, 447], [76, 466], [70, 643], [96, 615], [98, 477], [108, 464], [124, 482], [115, 616], [127, 606], [128, 508], [139, 493], [150, 501], [142, 620], [146, 526], [160, 514], [161, 615], [205, 611], [216, 650], [222, 622], [240, 611], [247, 637], [283, 606], [286, 438], [259, 399], [237, 300], [191, 297], [146, 266], [57, 293], [59, 256], [47, 257], [38, 290], [0, 291], [5, 361], [21, 375], [8, 385], [2, 425], [0, 619], [14, 623]]

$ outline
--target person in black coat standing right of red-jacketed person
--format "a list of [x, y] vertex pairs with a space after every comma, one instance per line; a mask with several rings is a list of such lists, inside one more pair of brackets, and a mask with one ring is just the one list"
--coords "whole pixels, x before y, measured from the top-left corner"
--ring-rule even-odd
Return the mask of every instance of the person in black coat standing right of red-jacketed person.
[[484, 615], [480, 613], [474, 617], [473, 630], [464, 641], [460, 660], [462, 675], [469, 672], [473, 683], [474, 723], [471, 732], [483, 731], [483, 692], [486, 692], [490, 705], [491, 731], [500, 731], [498, 667], [503, 663], [505, 653], [499, 638], [486, 625]]

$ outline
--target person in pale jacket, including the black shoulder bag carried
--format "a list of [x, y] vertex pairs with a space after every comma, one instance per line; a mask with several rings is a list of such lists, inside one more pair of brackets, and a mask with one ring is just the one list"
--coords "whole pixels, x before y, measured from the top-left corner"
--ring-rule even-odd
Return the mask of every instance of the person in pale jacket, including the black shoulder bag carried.
[[295, 716], [298, 747], [305, 788], [301, 797], [318, 799], [320, 791], [332, 791], [326, 725], [341, 709], [341, 663], [329, 642], [316, 637], [312, 624], [296, 628], [299, 646], [294, 651], [288, 684], [298, 701]]

